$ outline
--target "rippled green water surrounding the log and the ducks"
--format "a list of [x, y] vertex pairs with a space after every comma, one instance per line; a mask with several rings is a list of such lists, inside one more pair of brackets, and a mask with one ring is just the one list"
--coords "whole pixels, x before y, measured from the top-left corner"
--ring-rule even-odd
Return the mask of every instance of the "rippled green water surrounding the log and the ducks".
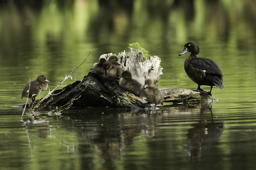
[[[0, 1], [0, 169], [255, 169], [255, 7], [255, 0]], [[53, 89], [91, 51], [62, 88], [83, 79], [100, 55], [133, 42], [161, 58], [159, 88], [194, 90], [183, 67], [189, 54], [178, 56], [189, 41], [223, 72], [211, 106], [72, 108], [29, 120], [12, 107], [26, 101], [29, 77], [44, 74]]]

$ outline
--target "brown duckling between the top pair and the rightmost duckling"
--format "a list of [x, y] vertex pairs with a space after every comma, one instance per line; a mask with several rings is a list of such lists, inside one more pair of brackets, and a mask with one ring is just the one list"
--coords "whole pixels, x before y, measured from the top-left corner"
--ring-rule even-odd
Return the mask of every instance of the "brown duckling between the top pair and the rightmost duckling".
[[119, 85], [121, 87], [123, 87], [130, 93], [140, 96], [141, 84], [137, 82], [137, 80], [132, 79], [132, 73], [129, 70], [123, 71], [122, 75], [119, 78], [121, 78], [119, 80]]

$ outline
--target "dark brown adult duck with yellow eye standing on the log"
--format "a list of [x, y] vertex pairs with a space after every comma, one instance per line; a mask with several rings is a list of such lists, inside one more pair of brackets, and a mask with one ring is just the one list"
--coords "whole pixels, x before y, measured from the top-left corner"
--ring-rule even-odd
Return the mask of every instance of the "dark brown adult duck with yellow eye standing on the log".
[[[201, 89], [201, 85], [211, 86], [211, 90], [213, 86], [223, 89], [223, 74], [220, 71], [220, 68], [210, 59], [198, 58], [199, 47], [197, 43], [188, 42], [185, 44], [184, 49], [179, 56], [187, 52], [191, 52], [191, 54], [185, 60], [185, 72], [193, 82], [198, 84], [197, 91], [204, 91]], [[211, 90], [205, 92], [211, 95]]]

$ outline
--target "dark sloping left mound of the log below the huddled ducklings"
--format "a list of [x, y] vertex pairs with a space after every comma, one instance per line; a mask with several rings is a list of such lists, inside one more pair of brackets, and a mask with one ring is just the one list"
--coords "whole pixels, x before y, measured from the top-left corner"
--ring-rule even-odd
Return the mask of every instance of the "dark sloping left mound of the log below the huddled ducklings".
[[50, 98], [40, 103], [40, 107], [62, 107], [67, 103], [77, 107], [141, 108], [145, 100], [124, 90], [117, 79], [111, 80], [89, 72], [83, 81], [56, 90]]

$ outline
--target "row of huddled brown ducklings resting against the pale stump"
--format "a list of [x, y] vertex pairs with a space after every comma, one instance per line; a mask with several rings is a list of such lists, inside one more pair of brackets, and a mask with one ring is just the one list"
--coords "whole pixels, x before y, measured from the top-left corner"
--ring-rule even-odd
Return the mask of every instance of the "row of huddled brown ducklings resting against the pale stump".
[[119, 79], [119, 85], [133, 93], [134, 95], [147, 98], [149, 104], [162, 104], [164, 97], [158, 88], [154, 87], [151, 79], [145, 80], [145, 85], [142, 86], [137, 80], [132, 78], [132, 73], [129, 70], [123, 70], [119, 58], [117, 56], [109, 56], [109, 58], [100, 58], [98, 63], [92, 66], [92, 72], [97, 75], [105, 75], [108, 77], [116, 77]]

